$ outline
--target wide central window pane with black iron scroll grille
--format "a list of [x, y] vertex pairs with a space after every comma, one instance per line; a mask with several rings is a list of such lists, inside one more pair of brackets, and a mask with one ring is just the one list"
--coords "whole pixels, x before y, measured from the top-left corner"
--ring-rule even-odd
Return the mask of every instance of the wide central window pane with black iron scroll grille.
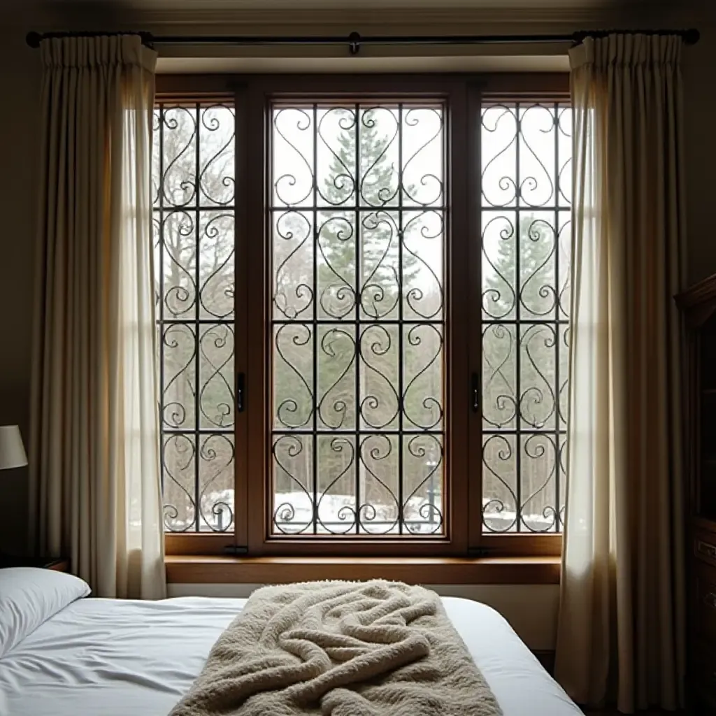
[[443, 534], [444, 107], [269, 117], [271, 531]]

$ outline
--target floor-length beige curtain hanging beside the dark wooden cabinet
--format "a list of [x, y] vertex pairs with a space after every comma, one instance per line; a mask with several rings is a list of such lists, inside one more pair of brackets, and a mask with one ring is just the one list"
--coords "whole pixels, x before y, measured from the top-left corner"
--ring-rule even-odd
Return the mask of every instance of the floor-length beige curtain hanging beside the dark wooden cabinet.
[[571, 50], [569, 488], [556, 676], [582, 704], [684, 702], [681, 40]]

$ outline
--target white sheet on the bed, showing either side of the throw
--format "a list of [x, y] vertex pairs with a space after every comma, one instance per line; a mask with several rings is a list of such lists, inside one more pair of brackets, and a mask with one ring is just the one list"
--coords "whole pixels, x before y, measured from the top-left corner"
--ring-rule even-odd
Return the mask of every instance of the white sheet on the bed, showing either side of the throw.
[[[485, 604], [445, 609], [504, 716], [582, 712]], [[165, 716], [246, 599], [81, 599], [0, 659], [1, 716]]]

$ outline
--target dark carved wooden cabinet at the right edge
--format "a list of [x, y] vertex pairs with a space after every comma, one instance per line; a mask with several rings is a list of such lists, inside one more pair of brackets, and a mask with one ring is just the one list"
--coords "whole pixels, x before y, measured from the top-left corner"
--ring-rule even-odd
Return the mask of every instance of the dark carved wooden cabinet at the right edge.
[[688, 697], [716, 715], [716, 275], [677, 296], [687, 324]]

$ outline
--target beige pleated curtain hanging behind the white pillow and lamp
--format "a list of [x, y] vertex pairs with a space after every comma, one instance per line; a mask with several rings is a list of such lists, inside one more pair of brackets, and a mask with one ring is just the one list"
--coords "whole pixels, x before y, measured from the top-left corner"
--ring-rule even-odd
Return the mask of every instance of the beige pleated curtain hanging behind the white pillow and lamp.
[[156, 55], [42, 43], [31, 441], [36, 551], [96, 596], [165, 596], [151, 225]]

